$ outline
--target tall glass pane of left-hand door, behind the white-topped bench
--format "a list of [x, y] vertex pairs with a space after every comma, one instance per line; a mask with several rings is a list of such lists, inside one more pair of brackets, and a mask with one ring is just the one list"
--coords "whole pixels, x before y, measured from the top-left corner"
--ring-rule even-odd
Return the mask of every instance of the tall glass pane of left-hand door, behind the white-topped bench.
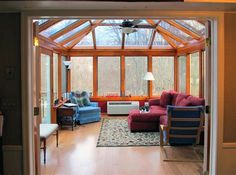
[[51, 94], [50, 94], [50, 56], [41, 54], [41, 119], [42, 123], [51, 123]]

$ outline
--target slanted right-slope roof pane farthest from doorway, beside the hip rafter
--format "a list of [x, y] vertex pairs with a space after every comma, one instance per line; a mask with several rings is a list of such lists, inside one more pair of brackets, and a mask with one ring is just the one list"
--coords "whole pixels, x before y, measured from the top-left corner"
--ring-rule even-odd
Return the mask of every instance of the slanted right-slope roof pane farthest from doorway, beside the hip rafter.
[[183, 31], [177, 29], [176, 27], [174, 27], [164, 21], [161, 21], [159, 25], [184, 40], [187, 40], [187, 41], [192, 40], [192, 38], [188, 34], [184, 33]]

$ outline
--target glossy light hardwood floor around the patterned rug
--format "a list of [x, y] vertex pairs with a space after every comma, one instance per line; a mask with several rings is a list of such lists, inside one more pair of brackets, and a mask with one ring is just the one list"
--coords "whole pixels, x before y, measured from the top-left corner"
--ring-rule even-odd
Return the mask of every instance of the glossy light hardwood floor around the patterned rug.
[[[104, 116], [103, 116], [104, 117]], [[96, 147], [101, 122], [60, 130], [47, 140], [42, 175], [199, 175], [202, 163], [164, 162], [159, 146]]]

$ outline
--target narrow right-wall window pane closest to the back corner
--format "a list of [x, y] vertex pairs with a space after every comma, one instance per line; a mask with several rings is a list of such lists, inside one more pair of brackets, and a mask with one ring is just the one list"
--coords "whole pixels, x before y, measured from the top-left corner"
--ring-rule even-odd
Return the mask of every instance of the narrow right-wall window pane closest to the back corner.
[[179, 92], [186, 92], [186, 56], [180, 56], [178, 58], [178, 66], [179, 66], [179, 85], [178, 85], [178, 91]]

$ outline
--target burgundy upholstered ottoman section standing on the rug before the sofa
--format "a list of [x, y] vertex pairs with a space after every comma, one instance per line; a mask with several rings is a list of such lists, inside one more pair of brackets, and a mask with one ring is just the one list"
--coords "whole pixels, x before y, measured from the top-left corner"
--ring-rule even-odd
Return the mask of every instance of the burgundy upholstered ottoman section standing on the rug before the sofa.
[[150, 111], [149, 113], [140, 113], [135, 109], [130, 111], [128, 116], [128, 125], [133, 131], [159, 131], [160, 114]]

